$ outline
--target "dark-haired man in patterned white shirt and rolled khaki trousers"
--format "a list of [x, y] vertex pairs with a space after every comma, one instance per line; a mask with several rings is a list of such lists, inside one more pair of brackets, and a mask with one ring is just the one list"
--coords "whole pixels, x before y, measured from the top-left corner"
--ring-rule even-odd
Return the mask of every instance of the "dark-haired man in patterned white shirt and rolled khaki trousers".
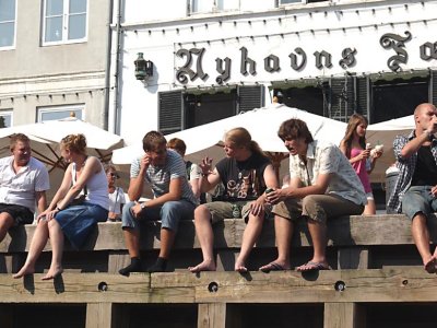
[[267, 195], [272, 209], [277, 258], [260, 270], [290, 270], [290, 244], [295, 222], [306, 219], [314, 245], [312, 258], [297, 271], [329, 269], [326, 258], [327, 220], [363, 213], [363, 184], [340, 149], [312, 139], [300, 119], [284, 121], [277, 136], [290, 151], [290, 186]]

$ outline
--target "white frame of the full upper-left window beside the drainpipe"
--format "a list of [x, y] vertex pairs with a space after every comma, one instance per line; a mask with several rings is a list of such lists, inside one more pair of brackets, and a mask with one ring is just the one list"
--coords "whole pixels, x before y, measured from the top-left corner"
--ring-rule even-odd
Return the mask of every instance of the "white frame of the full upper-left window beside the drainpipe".
[[63, 1], [62, 39], [55, 40], [55, 42], [46, 40], [46, 24], [47, 24], [46, 7], [47, 7], [47, 1], [48, 0], [44, 0], [43, 1], [43, 13], [42, 13], [42, 20], [43, 20], [42, 44], [43, 44], [43, 46], [55, 46], [55, 45], [64, 45], [64, 44], [85, 43], [87, 40], [87, 36], [88, 36], [90, 1], [92, 1], [92, 0], [86, 0], [85, 35], [82, 38], [73, 38], [73, 39], [69, 39], [68, 38], [68, 35], [69, 35], [69, 19], [70, 19], [69, 4], [70, 4], [71, 0], [62, 0]]

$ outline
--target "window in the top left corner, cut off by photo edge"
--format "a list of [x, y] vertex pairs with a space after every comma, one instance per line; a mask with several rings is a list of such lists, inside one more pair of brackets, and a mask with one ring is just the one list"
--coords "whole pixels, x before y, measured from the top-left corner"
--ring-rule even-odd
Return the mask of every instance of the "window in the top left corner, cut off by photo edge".
[[0, 0], [0, 49], [14, 45], [15, 14], [15, 0]]

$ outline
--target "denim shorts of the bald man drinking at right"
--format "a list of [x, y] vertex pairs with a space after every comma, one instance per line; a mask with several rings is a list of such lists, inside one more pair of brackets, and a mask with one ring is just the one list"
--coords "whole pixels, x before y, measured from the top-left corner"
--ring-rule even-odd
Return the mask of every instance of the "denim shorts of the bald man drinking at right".
[[437, 212], [437, 198], [430, 194], [432, 186], [413, 186], [402, 198], [402, 213], [411, 220], [422, 212], [426, 218]]

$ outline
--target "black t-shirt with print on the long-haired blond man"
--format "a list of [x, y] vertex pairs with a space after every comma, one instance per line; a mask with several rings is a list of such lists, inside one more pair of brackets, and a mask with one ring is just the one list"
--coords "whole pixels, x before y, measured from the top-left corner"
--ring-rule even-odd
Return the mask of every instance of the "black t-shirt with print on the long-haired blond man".
[[220, 161], [215, 168], [225, 186], [223, 200], [257, 199], [265, 190], [264, 169], [269, 164], [268, 157], [257, 153], [244, 162], [231, 157]]

